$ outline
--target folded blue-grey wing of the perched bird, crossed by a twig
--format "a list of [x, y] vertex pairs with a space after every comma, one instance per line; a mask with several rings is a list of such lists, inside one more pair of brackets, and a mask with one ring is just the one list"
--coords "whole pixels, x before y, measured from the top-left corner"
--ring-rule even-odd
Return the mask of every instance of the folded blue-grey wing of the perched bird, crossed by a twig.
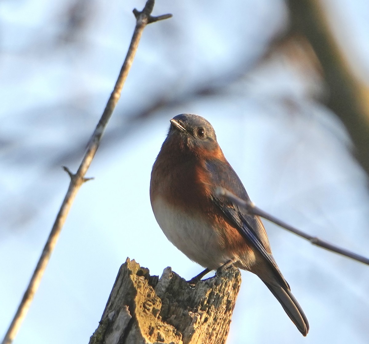
[[268, 236], [266, 235], [261, 219], [258, 216], [246, 214], [246, 211], [238, 207], [238, 205], [218, 197], [215, 194], [215, 189], [218, 186], [221, 186], [228, 191], [231, 191], [231, 193], [235, 194], [242, 200], [250, 200], [244, 185], [231, 165], [227, 160], [208, 160], [206, 162], [206, 168], [214, 183], [214, 188], [211, 192], [211, 197], [213, 198], [214, 203], [217, 204], [227, 218], [234, 223], [235, 227], [245, 240], [248, 243], [251, 243], [251, 245], [261, 253], [263, 258], [265, 258], [266, 262], [268, 262], [274, 271], [277, 279], [280, 280], [280, 282], [283, 282], [283, 284], [285, 284], [289, 289], [288, 283], [282, 276], [282, 273], [272, 256]]

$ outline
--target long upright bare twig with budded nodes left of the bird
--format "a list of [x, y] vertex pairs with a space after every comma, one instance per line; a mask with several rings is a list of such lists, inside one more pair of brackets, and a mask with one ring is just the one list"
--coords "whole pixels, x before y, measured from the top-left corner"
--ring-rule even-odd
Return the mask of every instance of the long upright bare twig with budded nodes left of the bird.
[[118, 100], [120, 98], [120, 94], [123, 88], [123, 84], [131, 68], [134, 56], [137, 51], [138, 42], [141, 38], [141, 35], [142, 35], [142, 32], [145, 26], [155, 21], [170, 18], [172, 16], [171, 14], [165, 14], [163, 16], [153, 17], [151, 16], [153, 7], [154, 7], [154, 0], [148, 0], [145, 4], [144, 9], [141, 12], [139, 12], [136, 9], [133, 10], [133, 13], [136, 17], [136, 27], [132, 35], [131, 44], [130, 44], [130, 47], [128, 48], [128, 52], [125, 57], [123, 66], [121, 68], [117, 82], [115, 83], [114, 90], [111, 93], [110, 98], [106, 104], [105, 110], [103, 112], [103, 115], [101, 116], [99, 123], [97, 123], [96, 129], [92, 134], [90, 142], [87, 146], [86, 154], [83, 157], [83, 160], [77, 170], [77, 173], [73, 174], [72, 172], [69, 171], [68, 168], [64, 167], [64, 170], [70, 176], [70, 184], [69, 184], [68, 191], [65, 195], [65, 198], [58, 212], [58, 215], [56, 216], [54, 225], [51, 229], [48, 240], [46, 241], [44, 249], [41, 253], [41, 257], [38, 260], [37, 266], [31, 277], [30, 283], [28, 284], [27, 290], [25, 291], [23, 295], [21, 303], [18, 306], [17, 313], [15, 313], [13, 321], [11, 322], [8, 328], [8, 331], [2, 341], [2, 344], [10, 344], [13, 342], [21, 326], [21, 323], [31, 305], [34, 294], [38, 289], [42, 275], [44, 274], [44, 271], [49, 262], [51, 253], [55, 247], [56, 241], [58, 240], [59, 234], [61, 232], [65, 219], [68, 215], [70, 207], [73, 203], [73, 200], [77, 194], [77, 191], [79, 190], [80, 186], [85, 181], [91, 179], [91, 178], [85, 178], [85, 174], [88, 168], [90, 167], [92, 159], [95, 156], [95, 153], [99, 147], [100, 140], [107, 126], [108, 120], [110, 119], [113, 113], [113, 110], [118, 103]]

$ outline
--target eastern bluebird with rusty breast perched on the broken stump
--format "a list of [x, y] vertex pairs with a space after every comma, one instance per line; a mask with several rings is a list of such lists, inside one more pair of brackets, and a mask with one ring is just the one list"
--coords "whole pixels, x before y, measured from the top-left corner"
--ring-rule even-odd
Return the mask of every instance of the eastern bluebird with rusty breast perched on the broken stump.
[[209, 271], [234, 263], [255, 273], [306, 336], [308, 321], [272, 256], [261, 219], [215, 192], [223, 187], [249, 200], [213, 127], [203, 117], [187, 113], [170, 123], [150, 182], [151, 206], [162, 231]]

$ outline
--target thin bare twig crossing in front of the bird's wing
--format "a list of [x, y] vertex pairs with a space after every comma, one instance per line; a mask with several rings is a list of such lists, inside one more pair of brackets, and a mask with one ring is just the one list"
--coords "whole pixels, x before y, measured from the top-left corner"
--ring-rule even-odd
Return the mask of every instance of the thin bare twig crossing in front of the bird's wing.
[[260, 208], [256, 207], [254, 203], [251, 201], [245, 201], [241, 198], [237, 197], [235, 194], [231, 193], [230, 191], [226, 190], [225, 188], [218, 187], [216, 190], [216, 193], [219, 197], [224, 197], [230, 200], [231, 202], [237, 204], [239, 207], [245, 208], [250, 214], [261, 216], [270, 222], [275, 223], [276, 225], [283, 227], [284, 229], [287, 229], [287, 231], [296, 234], [298, 236], [301, 236], [301, 238], [304, 238], [308, 241], [310, 241], [313, 245], [319, 246], [321, 248], [325, 248], [328, 251], [332, 251], [335, 253], [338, 253], [342, 256], [354, 259], [358, 262], [364, 263], [366, 265], [369, 265], [369, 259], [358, 255], [357, 253], [348, 251], [344, 248], [340, 248], [338, 246], [332, 245], [329, 242], [326, 242], [324, 240], [321, 240], [317, 238], [316, 236], [312, 236], [309, 234], [306, 234], [305, 232], [300, 231], [297, 228], [294, 228], [290, 226], [289, 224], [286, 224], [286, 222], [281, 221], [280, 219], [275, 218], [274, 216], [268, 214], [267, 212], [261, 210]]

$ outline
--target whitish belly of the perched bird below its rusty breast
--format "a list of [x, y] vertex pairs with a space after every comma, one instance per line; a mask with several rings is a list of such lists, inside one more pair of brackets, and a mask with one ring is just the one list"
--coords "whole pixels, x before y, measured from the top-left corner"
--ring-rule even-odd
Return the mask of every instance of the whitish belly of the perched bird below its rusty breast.
[[217, 231], [203, 219], [184, 214], [160, 197], [152, 202], [152, 210], [169, 241], [191, 260], [211, 270], [227, 260]]

